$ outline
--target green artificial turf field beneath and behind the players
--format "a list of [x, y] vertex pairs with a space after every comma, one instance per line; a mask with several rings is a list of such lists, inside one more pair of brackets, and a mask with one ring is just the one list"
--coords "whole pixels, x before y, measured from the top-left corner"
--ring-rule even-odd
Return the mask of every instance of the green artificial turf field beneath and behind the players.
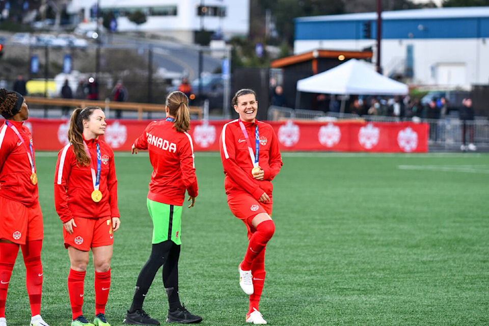
[[[271, 325], [489, 324], [489, 155], [285, 153], [274, 181], [276, 233], [267, 246], [260, 311]], [[69, 325], [69, 270], [53, 207], [56, 157], [37, 153], [44, 213], [42, 316]], [[224, 194], [218, 153], [196, 154], [200, 195], [183, 212], [180, 298], [204, 325], [245, 325], [248, 297], [237, 266], [244, 225]], [[121, 229], [115, 234], [107, 320], [122, 325], [149, 256], [147, 154], [116, 153]], [[88, 199], [89, 200], [89, 199]], [[9, 326], [28, 325], [24, 266], [7, 297]], [[84, 314], [93, 319], [93, 267]], [[156, 276], [144, 309], [161, 322], [167, 299]]]

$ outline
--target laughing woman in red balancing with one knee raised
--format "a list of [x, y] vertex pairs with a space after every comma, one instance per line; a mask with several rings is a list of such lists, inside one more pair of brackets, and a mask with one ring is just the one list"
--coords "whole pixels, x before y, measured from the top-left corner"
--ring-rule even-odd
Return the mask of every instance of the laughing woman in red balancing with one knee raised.
[[256, 120], [255, 92], [239, 90], [232, 102], [239, 119], [224, 125], [220, 149], [229, 208], [248, 229], [248, 248], [238, 267], [239, 285], [250, 295], [246, 322], [266, 324], [258, 305], [265, 281], [265, 247], [275, 232], [271, 180], [282, 167], [282, 157], [274, 129]]

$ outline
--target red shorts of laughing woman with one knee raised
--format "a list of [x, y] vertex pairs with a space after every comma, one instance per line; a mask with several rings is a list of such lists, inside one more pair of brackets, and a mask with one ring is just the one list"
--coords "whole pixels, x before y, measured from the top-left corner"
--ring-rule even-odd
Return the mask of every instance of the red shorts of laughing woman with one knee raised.
[[259, 213], [267, 213], [271, 216], [273, 201], [260, 203], [246, 192], [234, 192], [228, 195], [228, 206], [236, 218], [243, 221], [248, 230], [248, 238], [256, 231], [251, 221], [254, 216]]

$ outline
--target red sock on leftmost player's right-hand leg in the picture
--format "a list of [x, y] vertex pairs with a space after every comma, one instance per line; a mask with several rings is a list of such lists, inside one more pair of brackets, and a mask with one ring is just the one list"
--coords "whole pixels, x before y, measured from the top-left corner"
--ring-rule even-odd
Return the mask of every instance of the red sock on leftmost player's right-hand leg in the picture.
[[42, 264], [41, 248], [42, 240], [28, 241], [21, 244], [22, 255], [25, 264], [25, 286], [29, 293], [31, 315], [41, 314], [42, 294]]

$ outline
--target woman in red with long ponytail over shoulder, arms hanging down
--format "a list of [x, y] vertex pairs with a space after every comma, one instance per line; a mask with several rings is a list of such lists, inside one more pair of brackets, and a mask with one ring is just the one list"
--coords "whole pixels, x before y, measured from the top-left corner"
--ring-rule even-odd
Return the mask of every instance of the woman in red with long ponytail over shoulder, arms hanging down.
[[[69, 144], [58, 154], [55, 206], [63, 222], [70, 256], [68, 292], [72, 326], [110, 326], [105, 304], [111, 287], [113, 232], [120, 226], [114, 152], [98, 139], [105, 133], [105, 115], [99, 107], [76, 108], [68, 130]], [[89, 251], [95, 268], [95, 319], [82, 313]]]

